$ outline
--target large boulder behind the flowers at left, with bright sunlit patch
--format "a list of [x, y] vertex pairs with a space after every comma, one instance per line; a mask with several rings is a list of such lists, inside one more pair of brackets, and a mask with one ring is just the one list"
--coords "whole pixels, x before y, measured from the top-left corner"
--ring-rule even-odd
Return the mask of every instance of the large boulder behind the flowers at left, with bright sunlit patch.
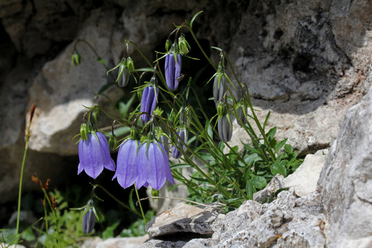
[[[100, 22], [99, 28], [96, 21]], [[92, 43], [98, 54], [103, 54], [102, 59], [110, 59], [110, 34], [114, 19], [112, 12], [94, 12], [85, 23], [84, 31], [79, 39]], [[37, 105], [32, 121], [30, 149], [40, 152], [54, 152], [58, 154], [76, 154], [77, 147], [73, 137], [79, 132], [83, 121], [83, 114], [87, 107], [99, 102], [101, 106], [109, 107], [107, 100], [95, 95], [100, 88], [109, 82], [106, 69], [96, 62], [96, 57], [85, 45], [76, 45], [82, 56], [79, 66], [71, 65], [71, 56], [74, 52], [74, 43], [68, 46], [56, 59], [45, 63], [41, 73], [35, 78], [30, 87], [30, 105]], [[116, 101], [121, 90], [116, 85], [110, 87], [105, 94]], [[107, 109], [109, 112], [112, 110]], [[102, 116], [103, 114], [101, 114]], [[105, 125], [110, 125], [105, 123]]]

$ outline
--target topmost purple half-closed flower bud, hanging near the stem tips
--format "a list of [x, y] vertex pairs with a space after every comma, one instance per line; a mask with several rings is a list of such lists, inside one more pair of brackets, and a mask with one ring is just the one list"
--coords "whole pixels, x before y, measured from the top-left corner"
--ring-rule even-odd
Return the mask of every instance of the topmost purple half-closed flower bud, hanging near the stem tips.
[[178, 77], [182, 68], [182, 56], [176, 53], [169, 53], [165, 56], [165, 81], [169, 90], [176, 90], [178, 87]]

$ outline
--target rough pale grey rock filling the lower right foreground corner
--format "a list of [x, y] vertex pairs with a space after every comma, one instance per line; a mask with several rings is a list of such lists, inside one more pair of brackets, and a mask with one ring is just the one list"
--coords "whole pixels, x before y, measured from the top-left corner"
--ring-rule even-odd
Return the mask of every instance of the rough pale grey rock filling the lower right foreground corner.
[[[347, 111], [316, 192], [299, 197], [292, 187], [271, 203], [248, 200], [212, 223], [210, 238], [161, 236], [141, 247], [371, 247], [371, 105], [372, 90]], [[301, 166], [300, 174], [309, 165]]]

